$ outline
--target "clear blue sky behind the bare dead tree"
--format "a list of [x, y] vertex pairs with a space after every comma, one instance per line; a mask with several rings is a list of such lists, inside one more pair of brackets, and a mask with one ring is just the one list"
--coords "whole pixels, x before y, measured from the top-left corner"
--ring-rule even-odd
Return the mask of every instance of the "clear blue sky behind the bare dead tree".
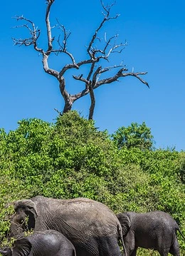
[[[106, 2], [106, 1], [105, 1]], [[107, 1], [110, 3], [111, 1]], [[56, 0], [51, 10], [51, 25], [56, 18], [71, 31], [68, 50], [75, 58], [85, 58], [93, 32], [102, 19], [99, 0]], [[136, 78], [120, 78], [117, 83], [95, 90], [94, 119], [100, 130], [115, 132], [121, 126], [143, 121], [151, 128], [157, 148], [185, 150], [185, 2], [117, 0], [112, 15], [119, 18], [106, 24], [107, 36], [119, 34], [127, 41], [122, 54], [112, 63], [125, 65], [132, 71], [147, 71], [143, 76], [150, 88]], [[32, 47], [14, 46], [11, 37], [26, 37], [27, 31], [13, 29], [18, 25], [13, 16], [31, 19], [41, 29], [41, 47], [45, 48], [44, 0], [3, 1], [1, 4], [0, 58], [0, 128], [14, 130], [23, 118], [41, 118], [54, 122], [54, 108], [63, 110], [58, 81], [43, 71], [41, 56]], [[60, 69], [64, 56], [53, 56], [51, 68]], [[80, 72], [80, 71], [79, 71]], [[79, 73], [80, 74], [80, 73]], [[68, 73], [68, 91], [80, 91]], [[76, 101], [73, 109], [88, 117], [89, 96]]]

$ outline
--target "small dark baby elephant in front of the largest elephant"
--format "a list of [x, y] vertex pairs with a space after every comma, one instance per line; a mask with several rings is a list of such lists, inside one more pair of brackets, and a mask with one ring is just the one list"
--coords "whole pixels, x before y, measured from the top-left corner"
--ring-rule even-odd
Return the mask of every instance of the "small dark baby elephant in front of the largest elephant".
[[0, 250], [4, 256], [75, 256], [75, 247], [60, 232], [45, 230], [34, 232], [14, 242], [12, 248]]

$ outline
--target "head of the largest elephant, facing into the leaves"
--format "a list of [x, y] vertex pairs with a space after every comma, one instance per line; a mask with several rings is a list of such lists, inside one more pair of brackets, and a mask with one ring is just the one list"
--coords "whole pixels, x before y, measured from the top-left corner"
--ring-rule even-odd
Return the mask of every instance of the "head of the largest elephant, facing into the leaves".
[[37, 210], [32, 200], [17, 200], [14, 203], [15, 214], [11, 220], [11, 234], [20, 235], [25, 230], [35, 227]]

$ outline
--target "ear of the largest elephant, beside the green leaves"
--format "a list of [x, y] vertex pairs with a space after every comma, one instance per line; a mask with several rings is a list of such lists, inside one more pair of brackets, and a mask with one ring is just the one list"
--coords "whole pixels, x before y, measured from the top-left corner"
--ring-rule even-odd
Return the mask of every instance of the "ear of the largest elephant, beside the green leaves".
[[30, 200], [17, 200], [14, 203], [14, 210], [16, 213], [18, 211], [24, 211], [26, 215], [28, 215], [28, 229], [31, 230], [31, 228], [35, 227], [36, 217], [38, 217], [37, 210], [36, 210], [36, 204]]

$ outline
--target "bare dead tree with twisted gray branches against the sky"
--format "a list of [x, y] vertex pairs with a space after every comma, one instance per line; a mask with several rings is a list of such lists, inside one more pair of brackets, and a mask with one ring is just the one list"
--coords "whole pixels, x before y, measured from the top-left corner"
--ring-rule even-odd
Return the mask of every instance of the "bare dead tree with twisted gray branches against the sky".
[[[48, 47], [46, 50], [43, 48], [38, 47], [38, 39], [41, 34], [41, 31], [35, 26], [33, 21], [26, 19], [23, 16], [16, 16], [17, 21], [23, 21], [23, 24], [18, 27], [24, 27], [28, 29], [29, 33], [31, 34], [31, 37], [26, 39], [15, 39], [13, 38], [14, 44], [18, 46], [33, 46], [38, 53], [42, 55], [42, 63], [43, 63], [43, 69], [51, 76], [54, 76], [60, 86], [60, 93], [63, 96], [65, 105], [63, 108], [63, 113], [70, 111], [70, 109], [73, 106], [73, 103], [77, 101], [79, 98], [86, 96], [88, 93], [90, 94], [90, 111], [89, 111], [89, 119], [93, 119], [93, 113], [95, 109], [95, 94], [94, 90], [102, 85], [113, 83], [115, 81], [118, 81], [119, 78], [125, 77], [125, 76], [134, 76], [135, 78], [139, 79], [142, 83], [144, 83], [146, 86], [149, 87], [148, 83], [144, 81], [140, 76], [145, 75], [147, 72], [127, 72], [127, 68], [122, 65], [115, 65], [115, 66], [105, 66], [102, 67], [102, 62], [107, 61], [109, 62], [110, 55], [113, 53], [121, 53], [123, 48], [125, 48], [126, 43], [117, 43], [117, 37], [118, 35], [115, 34], [114, 36], [107, 39], [106, 33], [102, 40], [99, 39], [98, 33], [104, 26], [104, 24], [107, 21], [110, 21], [111, 19], [117, 19], [119, 16], [118, 14], [115, 16], [110, 16], [110, 10], [114, 4], [111, 4], [110, 6], [103, 4], [102, 0], [100, 0], [100, 3], [102, 5], [102, 21], [100, 22], [99, 26], [97, 26], [97, 29], [95, 30], [92, 39], [88, 43], [87, 46], [87, 52], [88, 52], [88, 58], [85, 60], [82, 60], [80, 62], [75, 61], [75, 57], [73, 54], [68, 51], [67, 43], [68, 38], [70, 36], [70, 33], [66, 31], [65, 26], [60, 24], [60, 22], [57, 20], [57, 26], [59, 29], [61, 29], [61, 33], [63, 35], [63, 39], [61, 39], [61, 34], [56, 39], [55, 36], [52, 35], [52, 29], [55, 27], [51, 27], [50, 22], [50, 11], [51, 6], [53, 5], [55, 0], [46, 0], [47, 8], [46, 8], [46, 31], [47, 31], [47, 37], [48, 37]], [[54, 48], [53, 41], [56, 41], [57, 48]], [[95, 41], [99, 41], [100, 47], [97, 48], [95, 46]], [[48, 58], [51, 56], [51, 54], [55, 53], [58, 55], [59, 53], [64, 53], [70, 58], [70, 63], [65, 64], [60, 71], [56, 71], [53, 68], [50, 68], [48, 66]], [[81, 81], [84, 83], [83, 91], [80, 91], [75, 94], [70, 94], [65, 86], [65, 73], [71, 69], [80, 69], [81, 66], [86, 66], [88, 68], [88, 75], [86, 77], [83, 76], [83, 74], [80, 74], [79, 76], [73, 76], [75, 80]], [[107, 78], [100, 79], [100, 76], [102, 73], [108, 73], [108, 71], [114, 69], [115, 74], [113, 76], [107, 76]]]

